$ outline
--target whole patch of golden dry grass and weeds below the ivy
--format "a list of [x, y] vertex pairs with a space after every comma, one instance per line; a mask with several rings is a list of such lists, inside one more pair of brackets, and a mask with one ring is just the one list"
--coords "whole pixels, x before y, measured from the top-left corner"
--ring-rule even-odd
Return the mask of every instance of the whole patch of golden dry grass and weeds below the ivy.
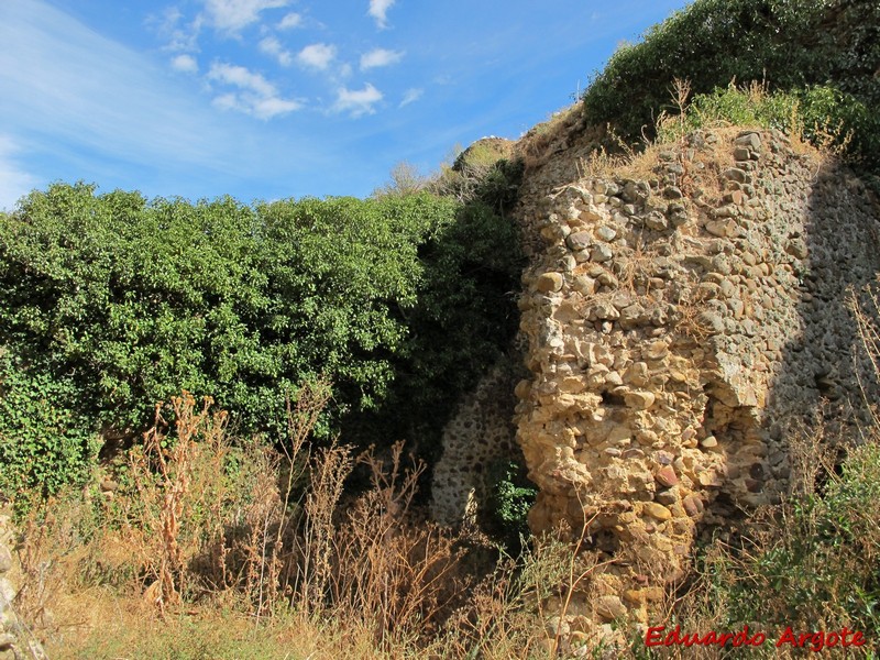
[[[484, 540], [413, 508], [421, 465], [311, 447], [304, 388], [276, 449], [232, 442], [210, 400], [158, 408], [118, 488], [34, 512], [19, 609], [66, 658], [547, 656], [540, 613], [568, 544], [488, 571]], [[173, 416], [173, 417], [172, 417]], [[168, 422], [168, 419], [173, 421]], [[372, 474], [344, 484], [356, 462]], [[51, 614], [50, 614], [51, 610]]]

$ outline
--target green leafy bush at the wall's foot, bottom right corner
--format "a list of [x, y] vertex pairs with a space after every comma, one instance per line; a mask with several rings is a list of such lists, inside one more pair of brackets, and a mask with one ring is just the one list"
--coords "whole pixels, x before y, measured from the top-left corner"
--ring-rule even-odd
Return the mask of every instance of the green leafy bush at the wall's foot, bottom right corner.
[[696, 619], [689, 629], [761, 622], [768, 637], [787, 626], [880, 635], [880, 444], [855, 449], [840, 472], [824, 492], [766, 513], [745, 550], [710, 547], [681, 609]]

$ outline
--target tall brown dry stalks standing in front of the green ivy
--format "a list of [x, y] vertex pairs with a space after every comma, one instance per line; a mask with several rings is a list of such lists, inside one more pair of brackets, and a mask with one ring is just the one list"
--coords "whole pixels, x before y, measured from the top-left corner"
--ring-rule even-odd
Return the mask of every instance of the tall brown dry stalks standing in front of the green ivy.
[[[370, 486], [346, 492], [351, 448], [310, 448], [327, 397], [318, 385], [302, 388], [284, 443], [275, 446], [233, 442], [226, 414], [186, 393], [157, 409], [113, 497], [99, 501], [112, 522], [94, 549], [77, 552], [92, 571], [82, 584], [108, 585], [106, 570], [113, 586], [146, 583], [145, 596], [168, 625], [172, 613], [215, 600], [264, 627], [289, 608], [369, 639], [371, 650], [360, 657], [437, 649], [442, 657], [506, 658], [541, 639], [528, 595], [539, 587], [495, 573], [474, 591], [485, 570], [476, 560], [492, 550], [422, 518], [415, 503], [424, 465], [407, 463], [403, 443], [356, 459]], [[125, 566], [96, 564], [110, 547]]]

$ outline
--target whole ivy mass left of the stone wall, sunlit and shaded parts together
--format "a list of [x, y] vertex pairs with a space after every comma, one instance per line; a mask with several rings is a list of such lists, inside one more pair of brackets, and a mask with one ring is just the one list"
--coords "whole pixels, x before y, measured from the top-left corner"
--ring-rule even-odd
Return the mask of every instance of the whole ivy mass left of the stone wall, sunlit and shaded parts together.
[[427, 193], [245, 206], [34, 191], [0, 222], [0, 394], [21, 411], [0, 419], [3, 477], [42, 480], [36, 452], [64, 480], [84, 433], [138, 431], [182, 389], [243, 432], [283, 428], [286, 397], [319, 377], [333, 383], [323, 435], [389, 402], [404, 421], [449, 408], [506, 339], [517, 273], [509, 222]]

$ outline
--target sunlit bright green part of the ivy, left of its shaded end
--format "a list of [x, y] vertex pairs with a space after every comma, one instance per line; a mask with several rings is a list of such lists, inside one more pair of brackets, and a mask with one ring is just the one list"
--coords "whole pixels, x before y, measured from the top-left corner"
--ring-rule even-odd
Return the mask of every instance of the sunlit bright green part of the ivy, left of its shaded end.
[[453, 217], [428, 198], [252, 209], [55, 185], [1, 230], [0, 329], [117, 428], [180, 387], [265, 428], [321, 372], [356, 392], [342, 407], [369, 406], [406, 333], [392, 310], [415, 304], [416, 244]]

